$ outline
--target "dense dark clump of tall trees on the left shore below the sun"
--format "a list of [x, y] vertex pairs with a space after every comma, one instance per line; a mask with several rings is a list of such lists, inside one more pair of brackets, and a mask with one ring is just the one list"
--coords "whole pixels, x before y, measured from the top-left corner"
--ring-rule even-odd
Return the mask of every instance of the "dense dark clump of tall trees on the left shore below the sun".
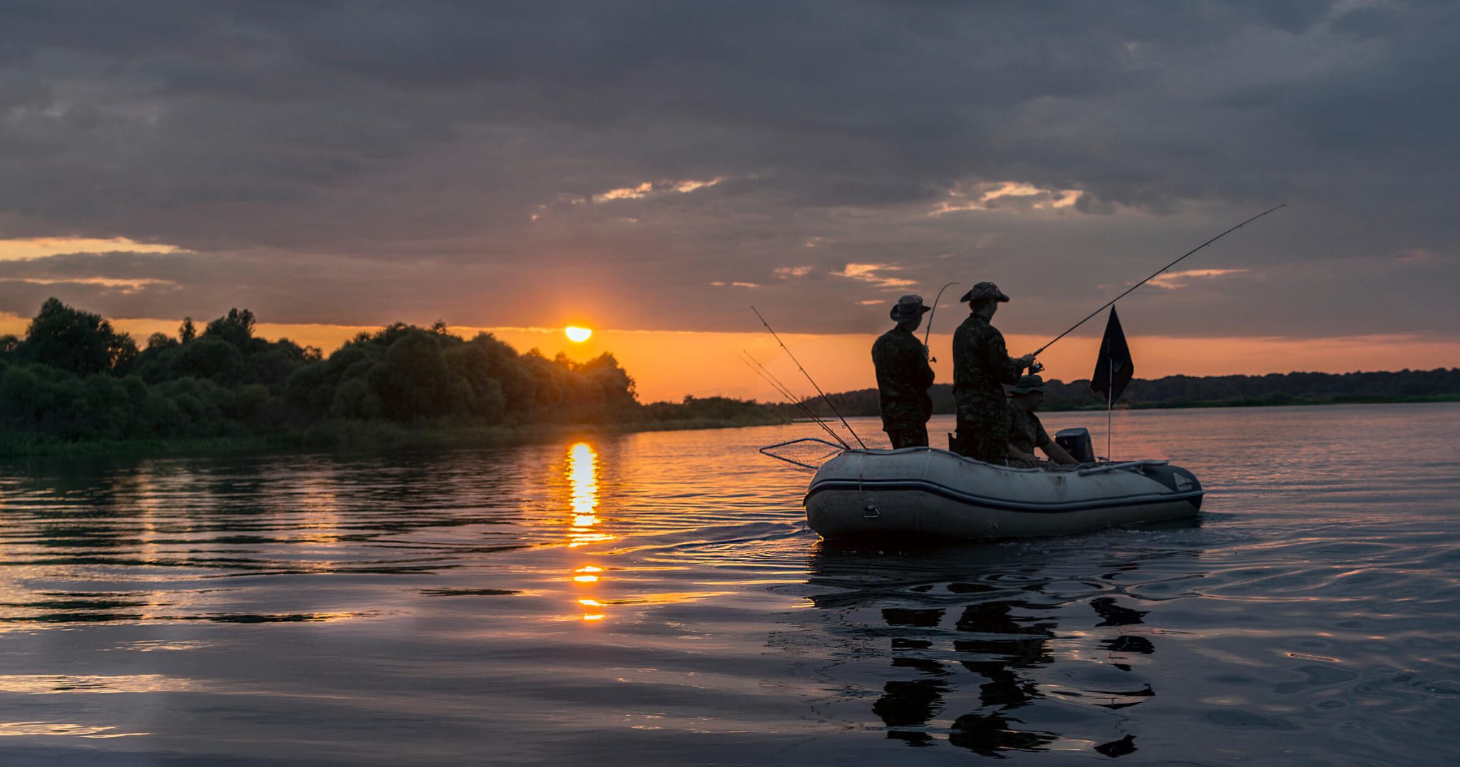
[[[736, 425], [781, 422], [778, 408], [726, 397], [641, 405], [610, 354], [587, 362], [518, 354], [491, 333], [391, 324], [324, 356], [254, 336], [228, 314], [145, 345], [99, 314], [51, 298], [25, 337], [0, 336], [0, 453], [55, 441], [257, 437], [352, 424]], [[359, 430], [356, 430], [359, 431]], [[368, 431], [366, 431], [368, 434]], [[9, 446], [9, 449], [6, 449]]]

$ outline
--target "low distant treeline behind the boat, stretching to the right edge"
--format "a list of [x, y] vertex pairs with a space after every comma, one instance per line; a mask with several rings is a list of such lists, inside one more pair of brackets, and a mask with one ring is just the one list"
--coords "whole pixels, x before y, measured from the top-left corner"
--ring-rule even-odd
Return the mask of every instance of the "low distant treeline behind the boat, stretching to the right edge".
[[[934, 384], [933, 412], [953, 412], [952, 384]], [[858, 389], [829, 394], [842, 415], [877, 415], [877, 390]], [[1460, 368], [1402, 370], [1399, 373], [1288, 373], [1269, 375], [1167, 375], [1130, 381], [1118, 408], [1238, 408], [1261, 405], [1339, 405], [1359, 402], [1460, 400]], [[818, 415], [829, 415], [822, 402]], [[1048, 381], [1044, 411], [1104, 409], [1105, 399], [1091, 392], [1089, 378]]]

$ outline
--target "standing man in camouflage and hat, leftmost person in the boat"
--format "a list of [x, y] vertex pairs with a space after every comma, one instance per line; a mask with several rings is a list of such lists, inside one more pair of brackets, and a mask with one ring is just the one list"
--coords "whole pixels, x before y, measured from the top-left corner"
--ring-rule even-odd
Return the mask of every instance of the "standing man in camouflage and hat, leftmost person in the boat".
[[933, 415], [933, 368], [927, 364], [927, 346], [917, 339], [923, 314], [933, 307], [923, 305], [923, 297], [904, 295], [892, 307], [896, 327], [872, 345], [872, 364], [877, 371], [877, 405], [882, 408], [882, 431], [892, 447], [927, 447], [927, 419]]

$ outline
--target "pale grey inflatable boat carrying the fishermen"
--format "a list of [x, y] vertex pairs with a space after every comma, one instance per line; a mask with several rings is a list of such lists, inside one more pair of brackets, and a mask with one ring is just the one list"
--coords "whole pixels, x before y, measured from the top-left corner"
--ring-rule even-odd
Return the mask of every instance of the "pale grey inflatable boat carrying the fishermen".
[[1015, 469], [948, 450], [845, 450], [821, 465], [806, 522], [822, 538], [994, 539], [1193, 517], [1196, 476], [1161, 460]]

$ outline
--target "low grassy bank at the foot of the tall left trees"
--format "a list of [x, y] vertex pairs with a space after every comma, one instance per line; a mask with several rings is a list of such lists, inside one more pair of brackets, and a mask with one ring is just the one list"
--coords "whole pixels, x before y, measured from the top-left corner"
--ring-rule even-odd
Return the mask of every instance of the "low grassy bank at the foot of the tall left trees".
[[0, 459], [42, 456], [196, 456], [269, 450], [326, 450], [374, 453], [456, 447], [508, 447], [587, 434], [685, 431], [787, 424], [778, 413], [764, 418], [691, 418], [618, 424], [533, 424], [517, 427], [460, 427], [444, 424], [402, 425], [390, 421], [324, 421], [304, 431], [239, 437], [187, 437], [147, 440], [76, 440], [48, 434], [0, 432]]

